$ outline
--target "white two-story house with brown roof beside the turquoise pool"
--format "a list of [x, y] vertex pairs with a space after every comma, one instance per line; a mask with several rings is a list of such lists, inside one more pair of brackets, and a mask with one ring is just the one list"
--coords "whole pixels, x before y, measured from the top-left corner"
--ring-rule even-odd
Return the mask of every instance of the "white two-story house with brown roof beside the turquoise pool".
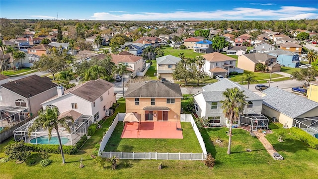
[[85, 116], [93, 116], [94, 122], [105, 117], [107, 110], [116, 102], [114, 84], [103, 79], [91, 80], [65, 91], [62, 86], [55, 90], [57, 96], [42, 102], [43, 109], [57, 107], [60, 113], [74, 110]]

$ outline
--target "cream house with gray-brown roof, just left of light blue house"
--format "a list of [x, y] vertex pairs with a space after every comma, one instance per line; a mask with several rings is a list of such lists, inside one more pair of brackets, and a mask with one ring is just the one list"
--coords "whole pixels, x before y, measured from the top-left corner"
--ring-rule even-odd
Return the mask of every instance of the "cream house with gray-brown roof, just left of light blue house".
[[276, 56], [264, 53], [245, 54], [239, 56], [238, 68], [255, 72], [256, 65], [261, 63], [265, 65], [267, 69], [271, 72], [280, 72], [281, 65], [276, 63], [276, 59]]

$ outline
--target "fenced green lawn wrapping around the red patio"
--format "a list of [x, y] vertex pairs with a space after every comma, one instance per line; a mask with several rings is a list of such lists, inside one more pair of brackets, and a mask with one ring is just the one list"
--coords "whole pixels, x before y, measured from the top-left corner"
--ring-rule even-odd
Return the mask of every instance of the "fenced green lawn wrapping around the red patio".
[[190, 122], [181, 122], [183, 139], [121, 139], [123, 123], [118, 122], [105, 152], [202, 153]]

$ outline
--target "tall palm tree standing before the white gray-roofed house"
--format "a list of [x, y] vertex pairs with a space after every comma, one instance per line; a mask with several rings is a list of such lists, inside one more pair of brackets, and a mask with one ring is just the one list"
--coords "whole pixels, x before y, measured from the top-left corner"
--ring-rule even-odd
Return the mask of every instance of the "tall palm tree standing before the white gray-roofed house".
[[228, 154], [231, 154], [233, 123], [239, 120], [239, 116], [243, 113], [247, 105], [245, 101], [246, 96], [243, 92], [243, 90], [239, 90], [238, 88], [226, 89], [226, 91], [223, 92], [225, 99], [221, 100], [224, 116], [230, 121]]

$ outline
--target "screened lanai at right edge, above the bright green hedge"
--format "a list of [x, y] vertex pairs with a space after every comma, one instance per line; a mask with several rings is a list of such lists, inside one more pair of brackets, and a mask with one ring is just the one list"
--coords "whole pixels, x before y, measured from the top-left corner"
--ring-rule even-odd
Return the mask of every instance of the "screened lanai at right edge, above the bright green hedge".
[[298, 127], [318, 138], [318, 116], [294, 119], [294, 127]]

